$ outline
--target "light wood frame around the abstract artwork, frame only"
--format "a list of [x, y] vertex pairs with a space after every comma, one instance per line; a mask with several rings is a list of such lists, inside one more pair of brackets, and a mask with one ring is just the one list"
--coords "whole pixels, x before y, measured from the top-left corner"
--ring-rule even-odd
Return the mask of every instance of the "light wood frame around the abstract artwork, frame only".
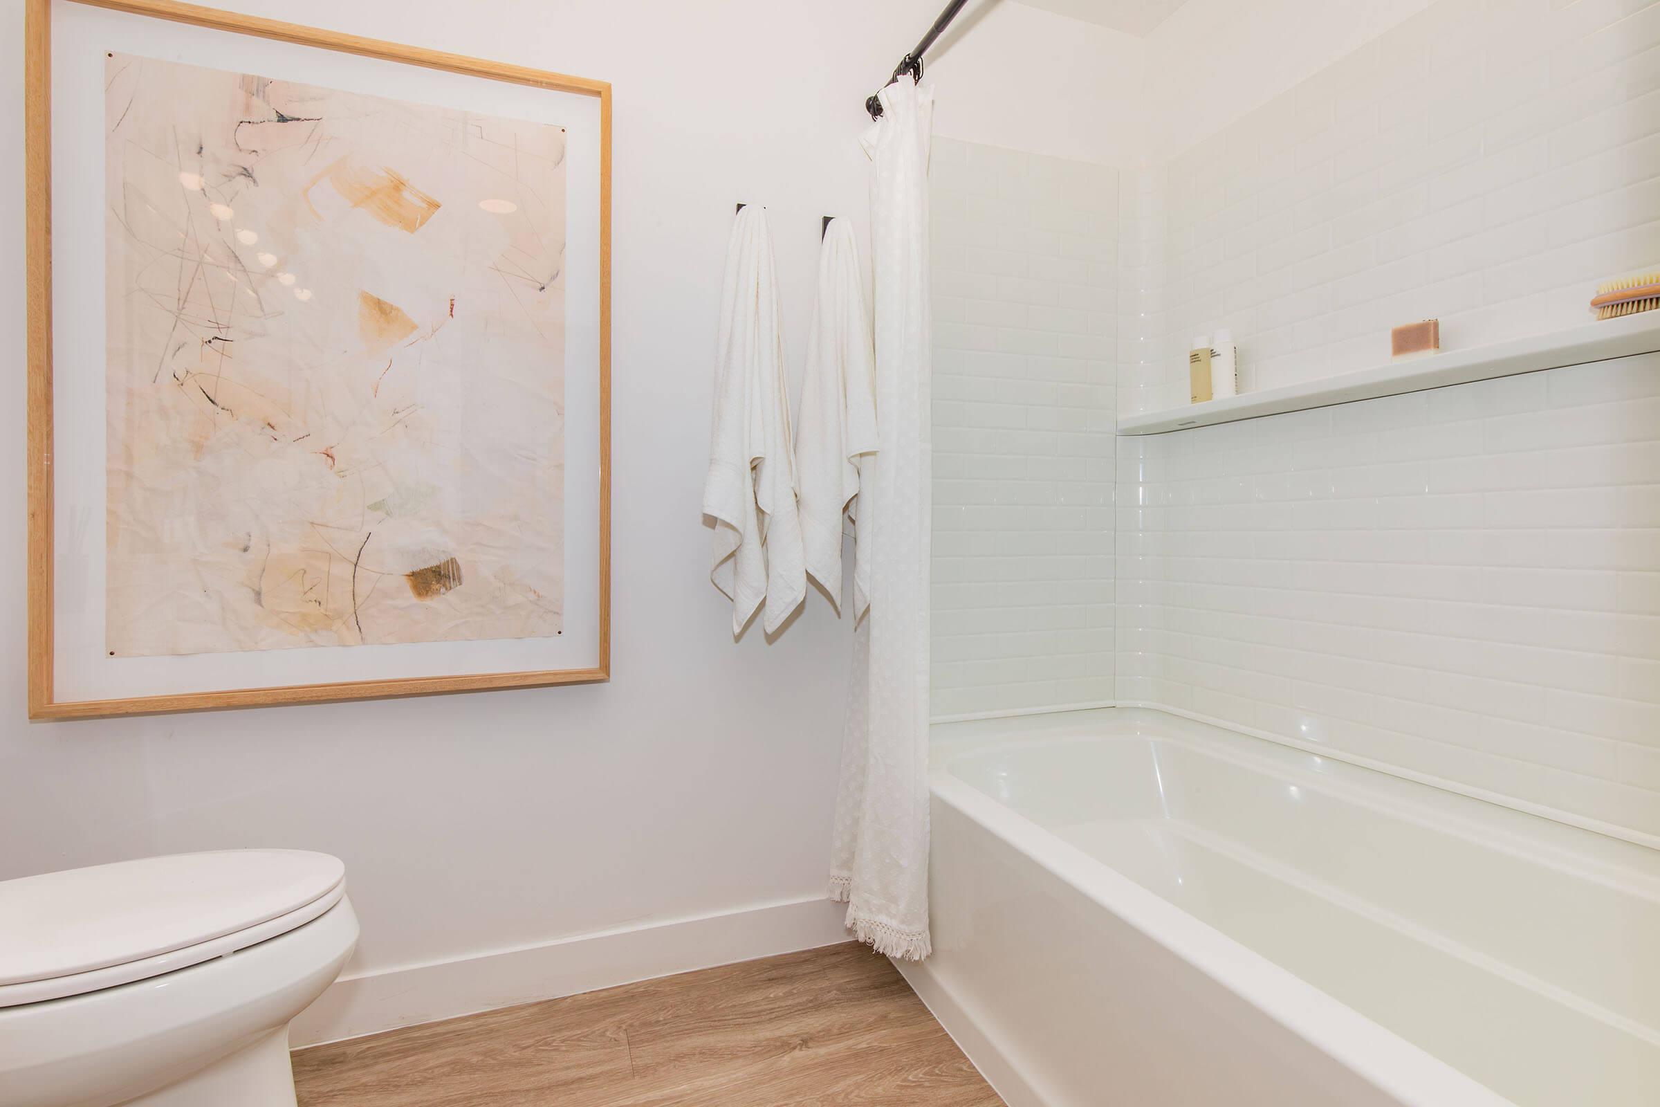
[[[231, 707], [286, 704], [319, 704], [332, 700], [428, 695], [521, 689], [556, 684], [586, 684], [609, 679], [611, 667], [611, 86], [559, 73], [518, 65], [468, 58], [418, 46], [378, 41], [329, 30], [299, 27], [171, 0], [27, 0], [25, 18], [25, 168], [27, 168], [27, 289], [28, 289], [28, 714], [30, 719], [93, 719], [111, 715], [188, 712]], [[247, 35], [294, 46], [307, 46], [374, 61], [402, 63], [503, 81], [533, 90], [549, 90], [598, 101], [598, 430], [584, 441], [598, 446], [598, 533], [583, 531], [584, 541], [598, 544], [598, 579], [564, 581], [571, 588], [593, 589], [589, 611], [598, 609], [598, 637], [593, 664], [578, 667], [533, 667], [525, 671], [455, 675], [385, 677], [322, 680], [315, 684], [284, 682], [267, 687], [208, 687], [179, 690], [169, 687], [156, 694], [110, 697], [60, 697], [56, 680], [56, 584], [55, 513], [58, 483], [55, 480], [55, 410], [53, 410], [53, 222], [51, 222], [51, 148], [53, 148], [53, 7], [101, 8], [128, 17], [163, 20]], [[212, 60], [199, 65], [212, 66]], [[453, 300], [452, 300], [453, 305]], [[584, 370], [586, 372], [586, 370]], [[105, 445], [96, 445], [100, 455]], [[586, 523], [584, 523], [586, 526]], [[355, 583], [354, 583], [355, 604]], [[101, 611], [101, 609], [100, 609]], [[591, 634], [591, 632], [589, 632]], [[511, 636], [508, 636], [511, 637]], [[588, 642], [589, 639], [584, 639]], [[377, 646], [347, 646], [378, 649]], [[584, 644], [586, 651], [586, 644]], [[279, 651], [282, 652], [282, 651]], [[495, 657], [496, 654], [490, 654]], [[584, 656], [586, 661], [586, 656]]]

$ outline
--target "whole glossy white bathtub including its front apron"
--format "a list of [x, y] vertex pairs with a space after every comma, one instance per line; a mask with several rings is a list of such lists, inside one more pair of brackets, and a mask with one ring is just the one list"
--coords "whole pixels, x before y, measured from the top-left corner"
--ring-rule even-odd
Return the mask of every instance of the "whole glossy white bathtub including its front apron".
[[1660, 1104], [1660, 851], [1150, 710], [935, 727], [935, 954], [1011, 1107]]

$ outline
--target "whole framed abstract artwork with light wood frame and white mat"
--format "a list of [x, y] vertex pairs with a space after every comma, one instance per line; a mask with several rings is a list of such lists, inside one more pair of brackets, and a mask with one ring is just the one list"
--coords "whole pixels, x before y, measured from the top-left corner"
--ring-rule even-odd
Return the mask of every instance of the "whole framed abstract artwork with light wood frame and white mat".
[[28, 692], [604, 680], [603, 81], [30, 0]]

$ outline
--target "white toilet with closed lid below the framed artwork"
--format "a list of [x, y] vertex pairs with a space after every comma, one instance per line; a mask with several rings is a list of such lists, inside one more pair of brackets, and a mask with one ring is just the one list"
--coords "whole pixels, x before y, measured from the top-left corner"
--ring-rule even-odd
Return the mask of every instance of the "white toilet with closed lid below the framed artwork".
[[0, 1104], [294, 1107], [289, 1021], [355, 944], [345, 866], [325, 853], [0, 881]]

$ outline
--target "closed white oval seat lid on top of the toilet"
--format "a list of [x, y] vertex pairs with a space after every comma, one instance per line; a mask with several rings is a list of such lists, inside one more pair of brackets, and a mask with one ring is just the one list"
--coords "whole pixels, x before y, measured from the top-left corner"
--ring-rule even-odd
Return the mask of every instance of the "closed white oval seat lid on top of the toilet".
[[0, 984], [171, 953], [327, 896], [345, 865], [305, 850], [217, 850], [0, 881]]

